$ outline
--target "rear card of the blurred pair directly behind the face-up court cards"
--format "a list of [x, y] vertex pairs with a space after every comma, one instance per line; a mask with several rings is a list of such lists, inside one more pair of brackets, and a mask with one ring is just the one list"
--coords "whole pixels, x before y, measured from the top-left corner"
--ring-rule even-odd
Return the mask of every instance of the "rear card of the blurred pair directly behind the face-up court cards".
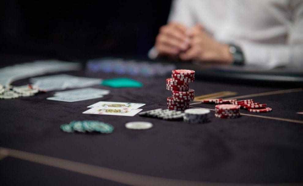
[[88, 95], [107, 95], [110, 93], [110, 90], [105, 89], [96, 89], [96, 88], [83, 88], [83, 89], [74, 89], [56, 92], [54, 96], [57, 97], [84, 97]]

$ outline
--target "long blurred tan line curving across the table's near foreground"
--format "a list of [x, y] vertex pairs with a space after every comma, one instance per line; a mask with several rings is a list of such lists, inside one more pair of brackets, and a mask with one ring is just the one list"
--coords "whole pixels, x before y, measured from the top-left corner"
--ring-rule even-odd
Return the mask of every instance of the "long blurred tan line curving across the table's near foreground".
[[85, 175], [107, 179], [110, 181], [129, 184], [134, 186], [283, 186], [297, 185], [302, 186], [303, 183], [281, 183], [281, 184], [238, 184], [238, 183], [211, 183], [199, 181], [185, 181], [168, 178], [145, 176], [135, 173], [109, 169], [100, 166], [89, 165], [85, 163], [74, 162], [66, 159], [54, 158], [45, 155], [38, 155], [30, 152], [19, 151], [9, 148], [0, 147], [1, 155], [8, 155], [13, 158], [27, 160], [47, 166], [53, 166], [64, 170], [69, 170]]

